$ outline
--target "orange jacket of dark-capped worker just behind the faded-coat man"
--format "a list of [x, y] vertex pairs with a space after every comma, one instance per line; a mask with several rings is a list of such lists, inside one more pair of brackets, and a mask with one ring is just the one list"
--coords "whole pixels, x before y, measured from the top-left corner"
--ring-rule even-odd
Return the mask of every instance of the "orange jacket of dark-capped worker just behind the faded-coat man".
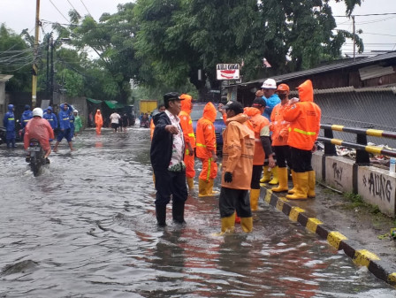
[[247, 107], [243, 111], [249, 118], [247, 126], [255, 133], [255, 157], [253, 159], [253, 164], [263, 165], [265, 152], [260, 137], [263, 135], [270, 136], [270, 121], [256, 108]]

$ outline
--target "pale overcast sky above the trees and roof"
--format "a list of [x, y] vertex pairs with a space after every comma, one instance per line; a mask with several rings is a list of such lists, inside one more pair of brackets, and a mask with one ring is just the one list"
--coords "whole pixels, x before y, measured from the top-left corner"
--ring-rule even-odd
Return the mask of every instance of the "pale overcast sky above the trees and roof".
[[[125, 4], [131, 0], [41, 0], [40, 19], [43, 20], [45, 33], [51, 31], [51, 22], [68, 23], [67, 12], [74, 7], [81, 15], [88, 12], [98, 20], [103, 12], [114, 13], [118, 4]], [[35, 0], [0, 0], [0, 22], [20, 33], [27, 28], [34, 34]], [[336, 4], [331, 0], [331, 7], [335, 16], [345, 15], [345, 4]], [[362, 7], [354, 10], [359, 14], [396, 13], [395, 0], [362, 0]], [[352, 32], [352, 19], [336, 18], [338, 28]], [[361, 34], [365, 43], [365, 51], [396, 50], [396, 14], [379, 16], [356, 16], [356, 30], [362, 29]], [[42, 32], [40, 33], [42, 36]], [[352, 53], [353, 43], [348, 41], [343, 47], [344, 53]]]

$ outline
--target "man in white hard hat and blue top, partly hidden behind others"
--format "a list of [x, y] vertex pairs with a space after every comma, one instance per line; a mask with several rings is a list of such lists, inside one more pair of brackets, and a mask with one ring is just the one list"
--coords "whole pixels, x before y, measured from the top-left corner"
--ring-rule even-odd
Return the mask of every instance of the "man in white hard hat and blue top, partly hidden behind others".
[[[280, 98], [276, 94], [277, 91], [277, 82], [274, 79], [264, 80], [262, 89], [255, 93], [255, 96], [263, 97], [263, 100], [266, 103], [265, 110], [263, 112], [263, 116], [270, 120], [270, 114], [272, 113], [273, 108], [280, 103]], [[267, 163], [263, 167], [263, 179], [260, 182], [268, 182], [270, 184], [278, 184], [278, 168], [270, 168]], [[270, 169], [270, 171], [269, 171]], [[270, 179], [272, 174], [272, 180]]]

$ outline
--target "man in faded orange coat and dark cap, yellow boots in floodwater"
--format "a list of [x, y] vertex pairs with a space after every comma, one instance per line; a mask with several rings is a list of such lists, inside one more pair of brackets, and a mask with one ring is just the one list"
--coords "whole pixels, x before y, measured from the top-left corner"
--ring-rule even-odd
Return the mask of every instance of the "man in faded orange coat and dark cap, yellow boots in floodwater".
[[252, 210], [248, 197], [255, 153], [255, 134], [244, 124], [247, 115], [238, 102], [223, 107], [227, 113], [227, 126], [223, 132], [223, 170], [219, 209], [221, 233], [232, 233], [235, 210], [240, 216], [242, 230], [253, 230]]

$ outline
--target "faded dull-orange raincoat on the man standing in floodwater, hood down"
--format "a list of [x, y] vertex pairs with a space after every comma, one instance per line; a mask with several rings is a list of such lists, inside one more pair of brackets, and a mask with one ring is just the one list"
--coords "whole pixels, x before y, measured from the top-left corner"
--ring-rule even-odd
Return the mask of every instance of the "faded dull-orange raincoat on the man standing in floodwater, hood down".
[[[227, 119], [227, 127], [223, 132], [222, 187], [250, 189], [255, 154], [255, 134], [248, 126], [244, 125], [247, 120], [245, 114], [238, 114]], [[232, 173], [231, 183], [225, 183], [225, 172]]]

